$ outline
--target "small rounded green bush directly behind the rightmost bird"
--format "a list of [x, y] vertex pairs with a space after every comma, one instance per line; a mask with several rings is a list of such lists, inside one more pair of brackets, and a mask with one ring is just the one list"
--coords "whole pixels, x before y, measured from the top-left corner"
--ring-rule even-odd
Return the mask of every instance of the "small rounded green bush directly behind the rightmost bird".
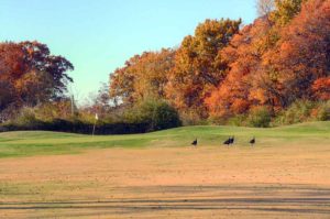
[[251, 127], [268, 128], [271, 120], [271, 110], [266, 107], [257, 107], [250, 110], [246, 122]]

